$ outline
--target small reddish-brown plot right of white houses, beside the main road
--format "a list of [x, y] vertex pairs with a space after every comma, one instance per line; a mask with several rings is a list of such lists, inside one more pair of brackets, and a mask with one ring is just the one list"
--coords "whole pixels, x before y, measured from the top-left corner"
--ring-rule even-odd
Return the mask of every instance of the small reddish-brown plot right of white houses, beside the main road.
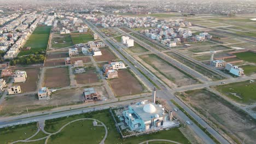
[[94, 56], [95, 61], [111, 61], [113, 59], [116, 59], [117, 57], [114, 55], [112, 51], [110, 51], [108, 48], [101, 48], [101, 56]]

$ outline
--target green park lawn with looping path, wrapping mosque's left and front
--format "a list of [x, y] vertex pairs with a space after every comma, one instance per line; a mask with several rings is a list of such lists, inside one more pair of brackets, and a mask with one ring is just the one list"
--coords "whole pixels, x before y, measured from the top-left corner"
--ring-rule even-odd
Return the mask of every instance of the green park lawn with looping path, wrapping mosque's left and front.
[[[187, 138], [181, 133], [181, 131], [179, 131], [178, 128], [163, 130], [154, 134], [130, 137], [128, 139], [121, 139], [117, 129], [115, 128], [114, 121], [110, 116], [109, 110], [102, 110], [102, 111], [96, 111], [91, 113], [84, 113], [80, 115], [47, 120], [45, 121], [45, 130], [49, 132], [57, 131], [59, 128], [62, 127], [62, 125], [65, 125], [66, 123], [78, 118], [95, 118], [103, 122], [108, 127], [108, 136], [105, 141], [106, 144], [107, 143], [111, 143], [111, 144], [112, 143], [139, 143], [139, 142], [143, 142], [150, 139], [166, 139], [166, 140], [177, 141], [180, 143], [189, 143]], [[88, 124], [86, 124], [86, 122]], [[88, 143], [96, 143], [96, 141], [90, 140], [90, 138], [87, 135], [94, 137], [94, 139], [96, 140], [100, 140], [102, 138], [102, 135], [104, 134], [102, 133], [103, 130], [99, 129], [97, 134], [94, 133], [94, 129], [92, 129], [92, 131], [90, 130], [90, 127], [92, 127], [92, 122], [84, 121], [83, 126], [81, 124], [82, 124], [81, 122], [78, 122], [78, 123], [75, 122], [74, 123], [75, 129], [73, 128], [73, 124], [67, 126], [66, 130], [72, 130], [72, 129], [74, 130], [66, 131], [65, 129], [63, 129], [65, 130], [65, 132], [63, 131], [63, 133], [61, 132], [60, 135], [57, 135], [55, 137], [56, 141], [59, 140], [59, 142], [62, 141], [63, 143], [64, 140], [69, 141], [68, 139], [72, 139], [73, 140], [72, 143], [79, 143], [80, 141], [77, 141], [77, 140], [88, 139], [89, 140]], [[89, 128], [86, 128], [86, 127], [89, 127]], [[96, 128], [98, 129], [98, 127]], [[65, 135], [69, 135], [69, 134], [70, 136], [65, 137]], [[77, 137], [77, 139], [73, 139], [72, 137], [74, 135], [78, 135], [80, 137], [75, 136]], [[56, 141], [54, 140], [52, 142], [56, 142]]]

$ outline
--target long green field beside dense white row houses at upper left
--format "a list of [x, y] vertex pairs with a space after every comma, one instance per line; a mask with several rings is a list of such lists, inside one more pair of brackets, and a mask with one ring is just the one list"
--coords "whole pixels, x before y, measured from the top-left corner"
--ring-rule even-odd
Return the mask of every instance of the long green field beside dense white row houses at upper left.
[[18, 56], [33, 54], [37, 51], [46, 50], [50, 35], [50, 26], [37, 26], [24, 47], [31, 47], [31, 50], [20, 51]]

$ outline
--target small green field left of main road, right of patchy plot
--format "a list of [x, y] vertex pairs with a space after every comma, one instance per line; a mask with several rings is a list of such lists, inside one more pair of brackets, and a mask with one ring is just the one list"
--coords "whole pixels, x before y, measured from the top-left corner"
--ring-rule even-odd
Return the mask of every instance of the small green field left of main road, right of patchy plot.
[[86, 34], [72, 34], [71, 35], [73, 44], [87, 43], [88, 41], [94, 41], [94, 37], [91, 33]]

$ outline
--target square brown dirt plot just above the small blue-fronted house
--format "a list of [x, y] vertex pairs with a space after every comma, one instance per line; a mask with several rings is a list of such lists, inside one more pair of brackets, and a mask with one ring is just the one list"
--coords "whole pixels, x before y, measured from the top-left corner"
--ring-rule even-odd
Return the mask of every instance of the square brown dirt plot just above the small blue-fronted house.
[[44, 86], [53, 87], [66, 87], [70, 85], [68, 67], [63, 68], [50, 68], [45, 70]]

